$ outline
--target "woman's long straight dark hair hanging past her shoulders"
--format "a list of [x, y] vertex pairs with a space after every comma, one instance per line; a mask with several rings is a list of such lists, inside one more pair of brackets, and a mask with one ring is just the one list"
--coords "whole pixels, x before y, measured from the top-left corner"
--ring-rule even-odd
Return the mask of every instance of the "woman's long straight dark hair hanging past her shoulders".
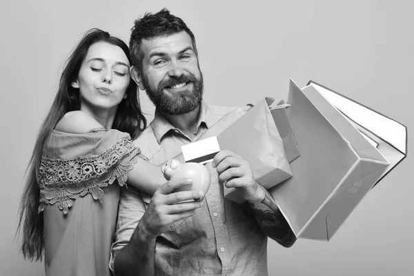
[[[91, 29], [86, 32], [66, 61], [66, 66], [59, 81], [57, 95], [37, 135], [36, 144], [26, 171], [26, 186], [20, 201], [17, 231], [23, 228], [21, 231], [23, 233], [21, 252], [24, 258], [28, 258], [30, 261], [41, 260], [43, 256], [43, 213], [38, 213], [40, 190], [37, 182], [43, 147], [63, 115], [66, 112], [80, 109], [79, 89], [73, 88], [72, 82], [77, 79], [81, 64], [90, 46], [100, 41], [121, 48], [128, 57], [130, 64], [132, 64], [126, 43], [99, 29]], [[130, 137], [135, 139], [139, 132], [146, 128], [146, 118], [141, 113], [135, 81], [130, 81], [126, 94], [128, 97], [119, 103], [112, 128], [128, 132]]]

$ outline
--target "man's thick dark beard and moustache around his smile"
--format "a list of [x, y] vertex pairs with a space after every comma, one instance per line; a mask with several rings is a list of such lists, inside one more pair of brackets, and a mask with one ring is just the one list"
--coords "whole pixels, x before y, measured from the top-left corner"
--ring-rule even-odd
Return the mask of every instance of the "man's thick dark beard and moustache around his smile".
[[[161, 112], [169, 115], [181, 115], [195, 110], [203, 99], [203, 75], [200, 72], [200, 79], [194, 75], [181, 75], [179, 78], [169, 78], [161, 81], [156, 90], [149, 86], [148, 79], [144, 72], [141, 72], [142, 82], [146, 88], [146, 93], [155, 107]], [[171, 92], [170, 95], [164, 93], [164, 88], [175, 86], [179, 83], [193, 83], [193, 90], [188, 89]]]

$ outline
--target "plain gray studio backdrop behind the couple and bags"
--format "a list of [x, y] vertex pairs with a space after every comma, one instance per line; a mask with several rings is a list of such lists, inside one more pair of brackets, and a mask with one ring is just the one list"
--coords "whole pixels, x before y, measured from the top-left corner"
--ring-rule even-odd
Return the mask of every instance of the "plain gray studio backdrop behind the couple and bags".
[[[0, 275], [44, 275], [42, 263], [23, 261], [14, 233], [63, 61], [89, 28], [128, 42], [132, 22], [164, 6], [195, 33], [210, 104], [286, 99], [289, 78], [301, 87], [313, 79], [414, 127], [411, 1], [8, 1], [0, 12]], [[331, 242], [300, 239], [286, 249], [270, 241], [269, 274], [414, 275], [413, 165], [408, 157], [397, 166]]]

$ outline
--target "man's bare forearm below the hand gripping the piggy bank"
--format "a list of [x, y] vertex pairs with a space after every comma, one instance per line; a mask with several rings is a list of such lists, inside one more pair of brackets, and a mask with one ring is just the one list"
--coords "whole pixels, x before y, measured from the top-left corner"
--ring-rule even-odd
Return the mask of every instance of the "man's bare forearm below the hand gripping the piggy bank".
[[115, 275], [137, 276], [155, 275], [155, 237], [150, 237], [144, 229], [142, 219], [125, 246], [115, 257]]

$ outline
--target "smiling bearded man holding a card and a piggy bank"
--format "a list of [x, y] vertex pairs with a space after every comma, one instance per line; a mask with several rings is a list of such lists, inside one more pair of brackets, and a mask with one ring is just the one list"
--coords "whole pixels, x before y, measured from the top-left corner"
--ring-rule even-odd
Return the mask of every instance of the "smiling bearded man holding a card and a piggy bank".
[[[135, 144], [161, 164], [229, 109], [202, 101], [195, 37], [168, 10], [135, 21], [130, 51], [132, 79], [156, 106]], [[295, 235], [247, 161], [222, 150], [207, 167], [212, 181], [206, 195], [174, 193], [186, 179], [168, 181], [152, 198], [132, 188], [121, 191], [110, 262], [115, 275], [267, 275], [267, 237], [292, 246]], [[246, 203], [224, 199], [223, 184], [235, 187]]]

